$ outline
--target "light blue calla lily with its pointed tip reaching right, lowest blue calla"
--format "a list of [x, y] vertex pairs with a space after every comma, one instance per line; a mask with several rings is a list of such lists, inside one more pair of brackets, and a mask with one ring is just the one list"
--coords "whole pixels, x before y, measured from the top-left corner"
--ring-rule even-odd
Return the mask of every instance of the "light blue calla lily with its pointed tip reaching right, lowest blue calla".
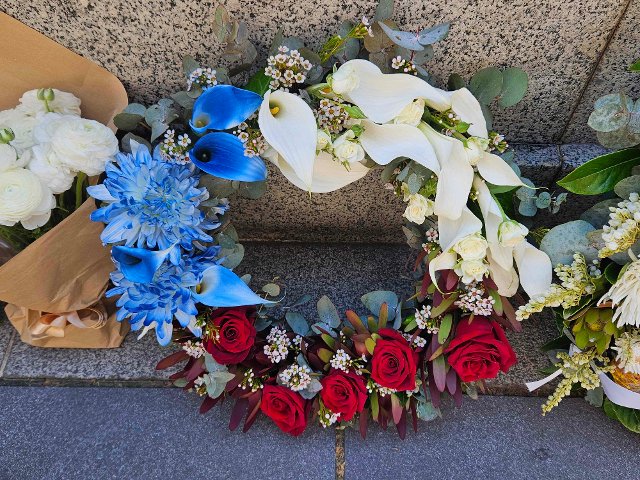
[[274, 303], [256, 295], [239, 276], [222, 265], [214, 265], [204, 272], [200, 289], [200, 293], [192, 294], [194, 300], [210, 307]]

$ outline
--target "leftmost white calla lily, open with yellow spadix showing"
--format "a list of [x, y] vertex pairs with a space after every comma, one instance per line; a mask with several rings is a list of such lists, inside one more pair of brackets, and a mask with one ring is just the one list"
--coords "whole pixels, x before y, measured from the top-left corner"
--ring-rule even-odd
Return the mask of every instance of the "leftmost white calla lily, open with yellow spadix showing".
[[[275, 116], [272, 107], [280, 109]], [[293, 168], [306, 190], [311, 185], [318, 140], [316, 119], [309, 105], [292, 93], [267, 92], [258, 124], [265, 140]]]

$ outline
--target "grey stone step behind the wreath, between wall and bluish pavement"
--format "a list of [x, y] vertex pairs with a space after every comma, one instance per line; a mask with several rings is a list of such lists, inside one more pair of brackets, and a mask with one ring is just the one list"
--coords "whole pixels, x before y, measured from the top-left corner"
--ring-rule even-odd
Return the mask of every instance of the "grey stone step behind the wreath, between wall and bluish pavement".
[[[322, 295], [328, 295], [339, 312], [365, 313], [360, 297], [367, 292], [392, 290], [405, 298], [412, 293], [410, 273], [415, 257], [404, 245], [250, 242], [245, 249], [238, 272], [251, 273], [254, 286], [280, 277], [291, 299], [310, 294], [314, 301], [303, 311], [308, 320], [315, 319], [315, 301]], [[539, 347], [556, 336], [553, 322], [538, 316], [523, 326], [522, 333], [509, 334], [519, 363], [509, 374], [490, 382], [490, 393], [527, 394], [524, 382], [539, 378], [540, 371], [548, 367]], [[167, 385], [167, 372], [154, 367], [170, 352], [170, 347], [158, 346], [153, 335], [138, 341], [133, 333], [121, 348], [111, 350], [36, 348], [20, 342], [6, 319], [0, 320], [1, 384]]]

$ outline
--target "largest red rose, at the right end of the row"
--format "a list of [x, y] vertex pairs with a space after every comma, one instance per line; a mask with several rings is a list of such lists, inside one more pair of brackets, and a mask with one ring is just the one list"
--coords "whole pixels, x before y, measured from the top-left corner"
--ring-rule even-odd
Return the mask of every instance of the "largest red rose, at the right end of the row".
[[486, 317], [474, 317], [471, 323], [463, 317], [445, 353], [463, 382], [495, 378], [498, 371], [507, 372], [516, 363], [502, 327]]

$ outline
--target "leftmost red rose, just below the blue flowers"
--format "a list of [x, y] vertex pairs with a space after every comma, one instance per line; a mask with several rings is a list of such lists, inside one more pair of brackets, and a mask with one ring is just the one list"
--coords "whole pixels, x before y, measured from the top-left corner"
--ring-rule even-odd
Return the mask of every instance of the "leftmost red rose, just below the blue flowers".
[[213, 359], [224, 365], [242, 362], [256, 338], [253, 307], [217, 308], [211, 313], [216, 335], [204, 342]]

